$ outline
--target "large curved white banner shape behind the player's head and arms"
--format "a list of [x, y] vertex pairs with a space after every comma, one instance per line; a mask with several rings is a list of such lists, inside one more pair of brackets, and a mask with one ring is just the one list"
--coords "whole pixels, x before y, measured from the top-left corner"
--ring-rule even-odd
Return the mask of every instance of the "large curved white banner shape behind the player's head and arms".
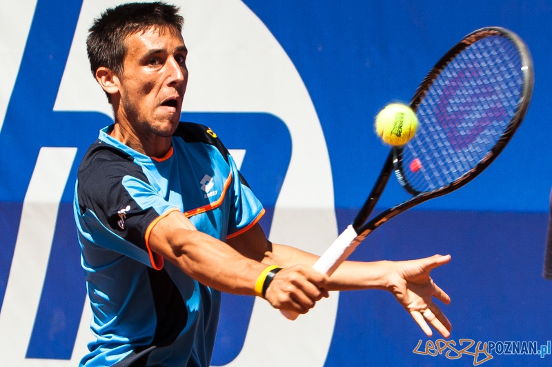
[[[112, 117], [105, 95], [90, 77], [85, 40], [92, 19], [123, 2], [83, 1], [54, 110], [96, 111]], [[184, 112], [264, 112], [286, 123], [292, 156], [269, 237], [322, 253], [337, 237], [331, 166], [313, 101], [292, 61], [242, 1], [171, 2], [181, 6], [186, 19], [184, 39], [190, 50]], [[317, 177], [316, 185], [312, 177]], [[334, 292], [308, 315], [287, 321], [266, 301], [256, 299], [242, 351], [227, 366], [253, 367], [262, 360], [266, 367], [322, 367], [337, 301]]]

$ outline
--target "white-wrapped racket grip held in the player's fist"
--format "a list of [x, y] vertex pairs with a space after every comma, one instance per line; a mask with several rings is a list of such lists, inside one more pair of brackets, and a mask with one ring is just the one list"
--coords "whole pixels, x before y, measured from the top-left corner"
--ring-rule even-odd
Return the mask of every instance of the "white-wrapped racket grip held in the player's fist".
[[[356, 238], [357, 232], [353, 226], [349, 225], [342, 234], [333, 241], [333, 244], [324, 251], [322, 256], [319, 257], [313, 265], [313, 268], [319, 272], [326, 273], [328, 276], [332, 275], [335, 269], [351, 255], [351, 252], [353, 252], [361, 242]], [[299, 316], [299, 313], [291, 310], [281, 310], [281, 312], [282, 315], [290, 320], [295, 320], [297, 316]]]

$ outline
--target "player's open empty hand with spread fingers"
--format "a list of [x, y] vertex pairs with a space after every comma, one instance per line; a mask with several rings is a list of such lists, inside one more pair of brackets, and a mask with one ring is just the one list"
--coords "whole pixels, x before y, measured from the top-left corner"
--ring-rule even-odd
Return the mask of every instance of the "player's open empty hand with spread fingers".
[[433, 303], [435, 297], [444, 304], [450, 304], [451, 297], [433, 283], [429, 276], [431, 270], [449, 261], [450, 255], [433, 255], [424, 259], [391, 263], [395, 268], [388, 278], [388, 289], [428, 337], [433, 335], [428, 323], [443, 337], [448, 338], [451, 335], [451, 322], [439, 306]]

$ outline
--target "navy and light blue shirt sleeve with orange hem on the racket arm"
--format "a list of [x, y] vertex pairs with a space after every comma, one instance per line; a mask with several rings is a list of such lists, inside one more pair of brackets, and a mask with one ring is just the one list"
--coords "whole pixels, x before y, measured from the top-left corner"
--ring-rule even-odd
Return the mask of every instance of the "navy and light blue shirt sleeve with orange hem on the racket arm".
[[[163, 267], [163, 259], [149, 248], [149, 230], [178, 209], [148, 182], [141, 166], [111, 150], [85, 157], [79, 168], [77, 197], [80, 217], [92, 232], [92, 241], [102, 237], [95, 244], [153, 268]], [[100, 234], [102, 230], [107, 232]]]

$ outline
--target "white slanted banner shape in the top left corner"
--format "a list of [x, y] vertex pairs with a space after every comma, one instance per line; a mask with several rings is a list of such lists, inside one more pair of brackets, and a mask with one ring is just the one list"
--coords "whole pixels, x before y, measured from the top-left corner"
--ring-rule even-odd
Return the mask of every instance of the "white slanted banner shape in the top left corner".
[[[8, 110], [8, 103], [17, 79], [23, 50], [32, 22], [32, 14], [37, 0], [18, 0], [0, 2], [0, 26], [4, 37], [0, 37], [0, 131]], [[6, 37], [7, 35], [7, 37]]]

